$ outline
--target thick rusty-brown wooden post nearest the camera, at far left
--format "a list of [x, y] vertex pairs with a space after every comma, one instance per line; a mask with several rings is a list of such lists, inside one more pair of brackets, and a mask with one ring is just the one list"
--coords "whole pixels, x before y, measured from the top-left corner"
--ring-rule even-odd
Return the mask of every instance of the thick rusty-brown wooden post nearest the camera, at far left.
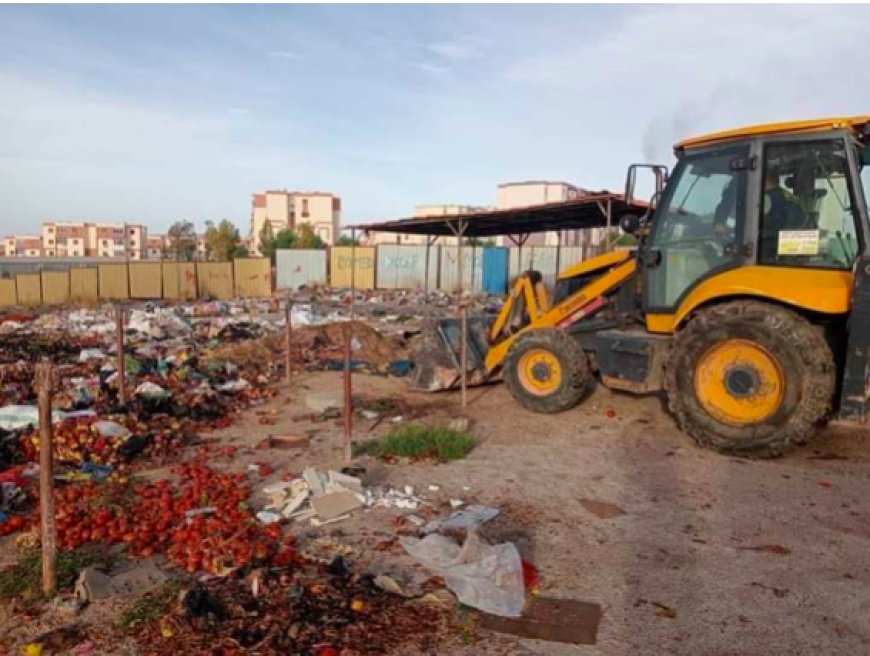
[[57, 590], [57, 525], [54, 516], [54, 455], [51, 434], [51, 388], [54, 370], [43, 358], [35, 368], [39, 403], [39, 510], [42, 516], [42, 591], [47, 597]]

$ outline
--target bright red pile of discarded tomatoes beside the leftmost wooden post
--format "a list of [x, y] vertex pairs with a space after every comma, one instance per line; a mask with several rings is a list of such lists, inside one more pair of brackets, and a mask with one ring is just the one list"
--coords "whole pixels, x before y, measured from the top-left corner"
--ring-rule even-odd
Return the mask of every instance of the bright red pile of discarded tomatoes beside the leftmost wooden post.
[[[274, 558], [293, 559], [292, 536], [277, 524], [264, 526], [246, 500], [245, 474], [215, 472], [195, 463], [175, 472], [182, 484], [166, 480], [132, 486], [84, 483], [55, 491], [58, 544], [75, 549], [86, 542], [124, 542], [133, 557], [165, 553], [188, 572], [212, 574]], [[188, 511], [214, 508], [214, 512]]]

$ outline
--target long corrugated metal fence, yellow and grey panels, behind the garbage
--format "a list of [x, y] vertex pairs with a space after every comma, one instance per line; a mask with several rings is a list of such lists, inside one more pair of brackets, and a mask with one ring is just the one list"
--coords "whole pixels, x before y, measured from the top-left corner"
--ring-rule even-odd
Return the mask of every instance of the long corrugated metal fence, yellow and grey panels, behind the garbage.
[[[566, 246], [561, 249], [557, 262], [555, 246], [523, 248], [522, 260], [520, 250], [508, 249], [509, 279], [513, 280], [522, 271], [535, 269], [550, 285], [557, 270], [602, 251], [593, 246]], [[463, 249], [462, 289], [483, 290], [486, 251], [487, 248], [473, 246]], [[68, 301], [229, 299], [272, 294], [272, 268], [267, 258], [239, 258], [233, 262], [129, 263], [117, 259], [92, 262], [94, 258], [28, 259], [0, 258], [0, 307], [57, 305]], [[503, 267], [495, 262], [496, 258], [490, 259], [492, 265]], [[276, 260], [279, 289], [298, 289], [311, 284], [350, 287], [352, 267], [354, 283], [359, 289], [422, 289], [425, 286], [425, 246], [386, 244], [354, 249], [337, 246], [328, 251], [279, 250]], [[493, 272], [489, 273], [492, 278]], [[458, 287], [456, 247], [433, 246], [429, 251], [429, 289], [452, 292]], [[501, 284], [496, 287], [501, 288]]]

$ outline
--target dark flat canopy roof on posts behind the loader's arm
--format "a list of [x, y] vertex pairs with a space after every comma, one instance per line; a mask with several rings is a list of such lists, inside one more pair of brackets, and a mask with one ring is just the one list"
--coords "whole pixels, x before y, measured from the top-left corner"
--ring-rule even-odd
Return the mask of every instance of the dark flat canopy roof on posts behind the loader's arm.
[[646, 203], [626, 203], [621, 194], [604, 191], [558, 203], [467, 214], [417, 216], [347, 227], [366, 232], [433, 237], [453, 237], [460, 234], [465, 237], [495, 237], [618, 225], [625, 214], [643, 214], [647, 209]]

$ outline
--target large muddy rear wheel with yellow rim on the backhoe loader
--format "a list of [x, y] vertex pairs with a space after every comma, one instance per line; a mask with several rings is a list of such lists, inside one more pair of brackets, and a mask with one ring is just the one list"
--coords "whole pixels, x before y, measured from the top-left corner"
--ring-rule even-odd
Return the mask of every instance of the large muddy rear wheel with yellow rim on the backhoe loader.
[[698, 313], [674, 338], [665, 367], [668, 405], [704, 447], [756, 458], [814, 434], [831, 410], [834, 356], [799, 314], [759, 301]]

